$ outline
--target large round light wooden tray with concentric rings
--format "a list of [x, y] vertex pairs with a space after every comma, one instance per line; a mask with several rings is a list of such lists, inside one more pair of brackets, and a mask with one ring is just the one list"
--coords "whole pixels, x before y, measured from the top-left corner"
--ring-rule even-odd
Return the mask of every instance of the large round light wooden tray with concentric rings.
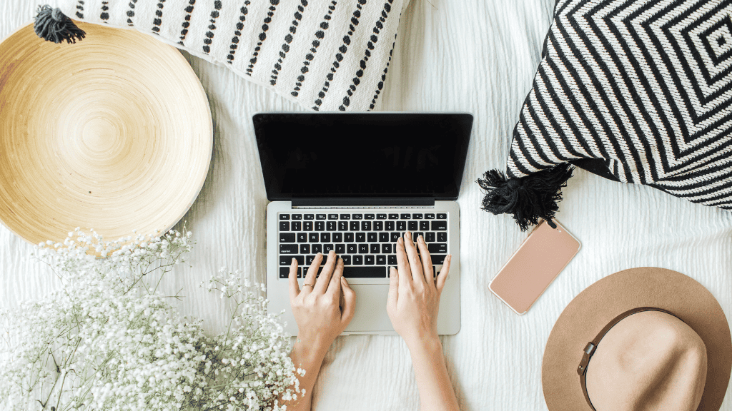
[[76, 227], [107, 240], [168, 230], [209, 169], [201, 82], [146, 34], [75, 23], [75, 44], [32, 25], [0, 43], [0, 220], [32, 244]]

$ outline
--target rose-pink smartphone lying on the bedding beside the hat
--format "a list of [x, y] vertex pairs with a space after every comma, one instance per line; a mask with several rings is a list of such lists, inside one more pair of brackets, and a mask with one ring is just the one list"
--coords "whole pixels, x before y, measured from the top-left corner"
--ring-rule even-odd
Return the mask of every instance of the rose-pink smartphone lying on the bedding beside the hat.
[[556, 219], [552, 221], [556, 228], [543, 220], [539, 222], [488, 284], [488, 289], [516, 314], [529, 311], [531, 304], [580, 251], [577, 238]]

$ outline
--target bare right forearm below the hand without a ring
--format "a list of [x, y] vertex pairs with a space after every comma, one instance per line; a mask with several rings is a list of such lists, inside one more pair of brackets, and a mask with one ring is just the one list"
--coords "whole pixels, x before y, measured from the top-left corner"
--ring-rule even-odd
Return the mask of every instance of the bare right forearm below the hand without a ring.
[[458, 411], [439, 339], [409, 347], [422, 411]]

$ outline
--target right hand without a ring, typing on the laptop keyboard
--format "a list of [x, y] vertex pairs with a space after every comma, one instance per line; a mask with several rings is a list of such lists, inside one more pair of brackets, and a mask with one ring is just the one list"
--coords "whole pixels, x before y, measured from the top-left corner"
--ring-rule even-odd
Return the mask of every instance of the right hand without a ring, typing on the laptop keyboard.
[[[422, 254], [419, 259], [417, 248], [410, 232], [397, 240], [397, 268], [390, 268], [389, 297], [386, 313], [395, 331], [414, 347], [427, 340], [437, 340], [437, 313], [440, 308], [440, 293], [450, 269], [450, 255], [445, 258], [442, 270], [433, 279], [432, 259], [422, 235], [417, 246]], [[405, 240], [406, 238], [406, 240]], [[405, 248], [406, 245], [406, 248]]]

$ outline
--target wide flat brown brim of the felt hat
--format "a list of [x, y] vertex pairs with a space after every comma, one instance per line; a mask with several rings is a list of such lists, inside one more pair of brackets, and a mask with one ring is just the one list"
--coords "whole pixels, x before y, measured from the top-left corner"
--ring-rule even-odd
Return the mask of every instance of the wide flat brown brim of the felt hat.
[[632, 268], [606, 276], [577, 295], [554, 324], [542, 360], [550, 411], [591, 411], [577, 366], [583, 348], [616, 315], [639, 306], [673, 312], [706, 344], [707, 373], [698, 411], [718, 411], [732, 369], [732, 338], [722, 307], [689, 276], [665, 268]]

